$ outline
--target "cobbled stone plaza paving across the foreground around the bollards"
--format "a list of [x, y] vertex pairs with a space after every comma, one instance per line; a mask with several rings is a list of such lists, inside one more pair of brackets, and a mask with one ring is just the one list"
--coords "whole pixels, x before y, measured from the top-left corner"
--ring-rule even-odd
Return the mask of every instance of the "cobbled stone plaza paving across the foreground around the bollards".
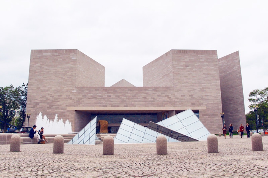
[[168, 143], [167, 155], [156, 155], [156, 144], [115, 144], [114, 155], [97, 145], [24, 144], [21, 152], [0, 145], [0, 177], [268, 177], [268, 136], [264, 151], [252, 151], [251, 138], [218, 137], [219, 153], [208, 153], [207, 142]]

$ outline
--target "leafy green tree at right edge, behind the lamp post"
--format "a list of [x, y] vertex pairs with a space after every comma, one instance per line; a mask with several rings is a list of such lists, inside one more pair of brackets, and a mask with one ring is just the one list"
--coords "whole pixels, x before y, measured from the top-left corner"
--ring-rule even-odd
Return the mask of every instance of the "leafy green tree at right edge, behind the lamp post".
[[[250, 104], [249, 108], [253, 109], [253, 105], [258, 105], [258, 112], [257, 114], [259, 115], [259, 127], [261, 126], [261, 119], [263, 119], [263, 128], [268, 128], [268, 87], [259, 90], [253, 90], [252, 92], [249, 93], [249, 98], [248, 100], [252, 103]], [[253, 112], [253, 111], [250, 111]], [[255, 118], [255, 123], [256, 123], [256, 118]]]

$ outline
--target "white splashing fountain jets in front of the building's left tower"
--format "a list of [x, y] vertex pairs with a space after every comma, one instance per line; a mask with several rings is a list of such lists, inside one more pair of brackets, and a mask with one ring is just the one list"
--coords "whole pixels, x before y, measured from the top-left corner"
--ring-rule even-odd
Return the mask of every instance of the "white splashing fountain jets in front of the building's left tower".
[[40, 112], [36, 117], [35, 125], [37, 126], [37, 130], [43, 127], [45, 134], [68, 134], [72, 132], [71, 123], [68, 120], [65, 123], [63, 123], [62, 119], [58, 120], [57, 114], [52, 121], [46, 115], [43, 118]]

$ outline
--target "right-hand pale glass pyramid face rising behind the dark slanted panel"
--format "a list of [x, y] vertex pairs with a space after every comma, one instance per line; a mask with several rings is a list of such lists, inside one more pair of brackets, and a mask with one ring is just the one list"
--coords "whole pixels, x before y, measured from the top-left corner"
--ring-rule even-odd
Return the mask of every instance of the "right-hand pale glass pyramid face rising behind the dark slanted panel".
[[157, 124], [199, 141], [207, 140], [210, 134], [191, 109], [180, 112]]

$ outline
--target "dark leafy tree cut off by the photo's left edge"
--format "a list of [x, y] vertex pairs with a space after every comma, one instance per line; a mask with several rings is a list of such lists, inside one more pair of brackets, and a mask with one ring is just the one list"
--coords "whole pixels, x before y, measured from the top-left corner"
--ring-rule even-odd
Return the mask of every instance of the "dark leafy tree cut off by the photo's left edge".
[[8, 87], [0, 87], [0, 106], [1, 108], [1, 128], [7, 129], [7, 124], [11, 122], [15, 116], [15, 109], [19, 109], [19, 91], [13, 85]]

